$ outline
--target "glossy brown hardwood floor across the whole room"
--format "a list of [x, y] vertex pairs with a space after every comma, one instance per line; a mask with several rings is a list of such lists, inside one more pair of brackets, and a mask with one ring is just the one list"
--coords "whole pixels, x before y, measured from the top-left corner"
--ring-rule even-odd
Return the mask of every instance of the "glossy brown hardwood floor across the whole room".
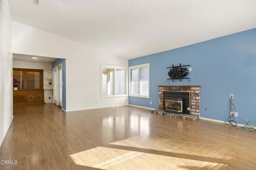
[[130, 106], [67, 113], [53, 104], [14, 106], [0, 169], [254, 170], [255, 142], [256, 133], [240, 127]]

